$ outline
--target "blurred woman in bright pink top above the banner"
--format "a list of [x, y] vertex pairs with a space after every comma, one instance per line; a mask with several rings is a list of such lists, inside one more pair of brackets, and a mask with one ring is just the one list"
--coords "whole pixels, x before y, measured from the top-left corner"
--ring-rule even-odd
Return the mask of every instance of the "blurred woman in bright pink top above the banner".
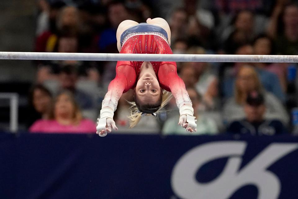
[[93, 133], [96, 124], [82, 118], [82, 113], [73, 95], [64, 91], [56, 97], [49, 119], [37, 120], [29, 128], [34, 133]]

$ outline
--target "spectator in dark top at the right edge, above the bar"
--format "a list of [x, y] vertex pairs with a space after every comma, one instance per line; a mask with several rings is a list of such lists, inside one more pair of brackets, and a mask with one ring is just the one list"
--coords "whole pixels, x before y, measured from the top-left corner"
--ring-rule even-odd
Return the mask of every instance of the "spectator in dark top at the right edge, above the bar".
[[298, 54], [298, 6], [277, 1], [267, 29], [275, 39], [276, 51], [282, 55]]

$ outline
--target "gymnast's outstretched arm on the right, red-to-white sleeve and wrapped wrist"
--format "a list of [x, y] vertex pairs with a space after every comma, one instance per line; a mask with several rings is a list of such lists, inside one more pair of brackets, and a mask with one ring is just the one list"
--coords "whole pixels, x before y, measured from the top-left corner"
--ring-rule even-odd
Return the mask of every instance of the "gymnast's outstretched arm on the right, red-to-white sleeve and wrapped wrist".
[[196, 131], [196, 120], [193, 116], [192, 101], [188, 96], [183, 80], [177, 74], [177, 68], [172, 64], [160, 66], [158, 77], [160, 82], [171, 90], [179, 108], [181, 125], [187, 132]]

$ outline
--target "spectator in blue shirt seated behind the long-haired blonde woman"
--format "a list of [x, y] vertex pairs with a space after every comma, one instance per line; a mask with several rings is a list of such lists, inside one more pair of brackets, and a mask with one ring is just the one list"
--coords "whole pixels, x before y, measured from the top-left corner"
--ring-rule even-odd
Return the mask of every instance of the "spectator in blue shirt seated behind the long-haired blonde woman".
[[[239, 49], [237, 49], [236, 54], [253, 54], [253, 48], [251, 45], [241, 46]], [[225, 98], [233, 96], [233, 90], [231, 88], [233, 88], [235, 82], [235, 75], [239, 71], [239, 68], [245, 64], [250, 63], [235, 63], [231, 70], [226, 70], [222, 84], [223, 95]], [[255, 68], [255, 70], [259, 75], [264, 89], [274, 94], [278, 99], [282, 100], [282, 102], [285, 102], [285, 94], [280, 85], [278, 76], [261, 68]]]

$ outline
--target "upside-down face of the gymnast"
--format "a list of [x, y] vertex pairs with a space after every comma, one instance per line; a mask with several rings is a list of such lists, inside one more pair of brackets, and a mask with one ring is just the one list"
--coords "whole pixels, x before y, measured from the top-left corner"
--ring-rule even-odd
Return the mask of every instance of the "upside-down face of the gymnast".
[[142, 104], [155, 104], [160, 100], [161, 89], [158, 80], [151, 73], [145, 73], [137, 82], [135, 95]]

